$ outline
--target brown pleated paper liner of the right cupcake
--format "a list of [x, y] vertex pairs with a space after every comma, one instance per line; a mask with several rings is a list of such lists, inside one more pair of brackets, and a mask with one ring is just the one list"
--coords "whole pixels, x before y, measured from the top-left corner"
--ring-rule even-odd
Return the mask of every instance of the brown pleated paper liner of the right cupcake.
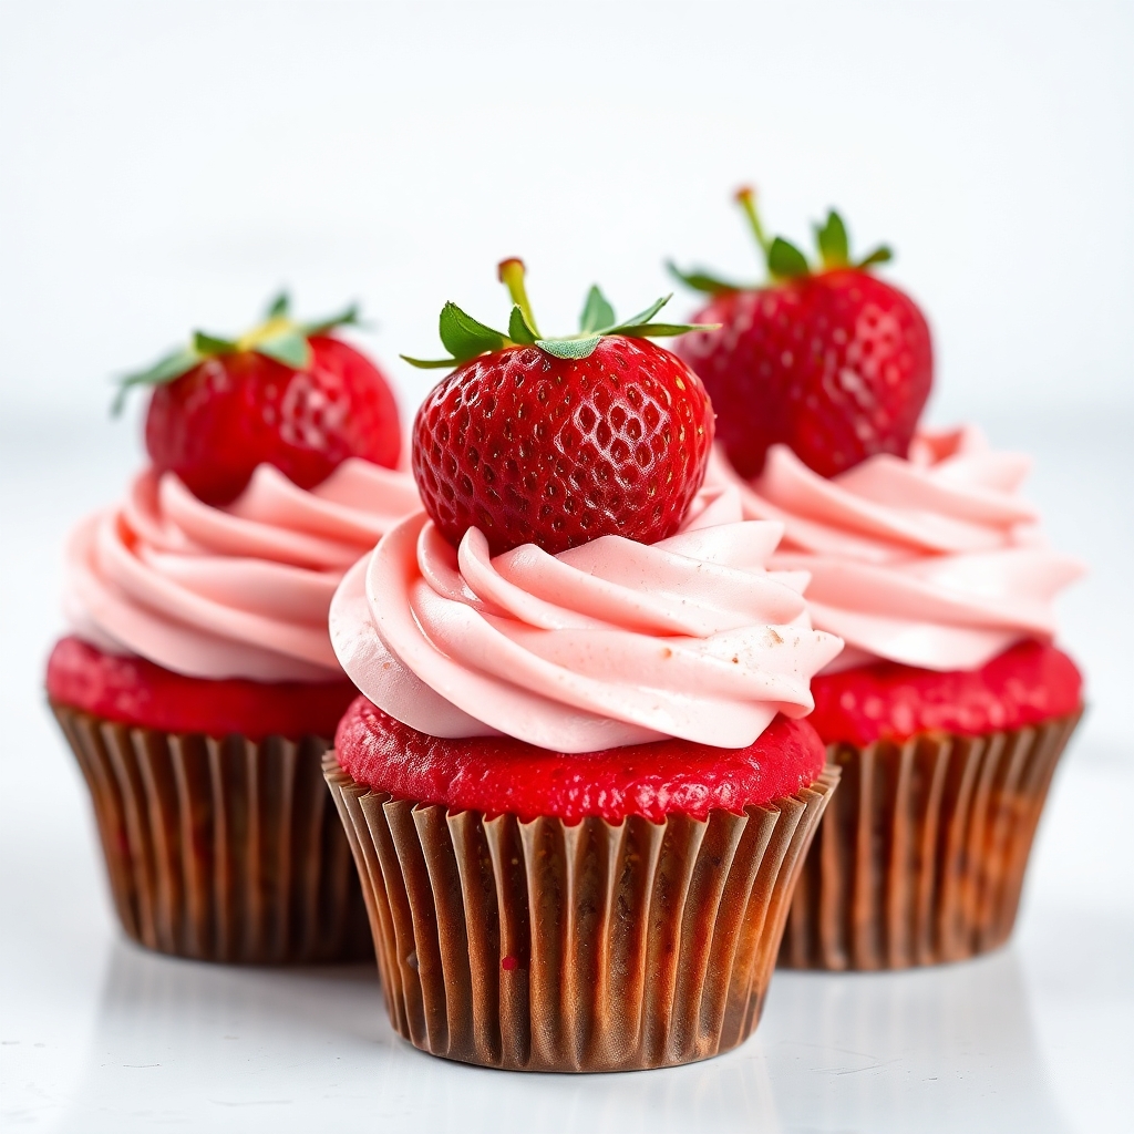
[[830, 745], [843, 778], [796, 887], [779, 964], [907, 968], [1002, 945], [1081, 716], [975, 737]]

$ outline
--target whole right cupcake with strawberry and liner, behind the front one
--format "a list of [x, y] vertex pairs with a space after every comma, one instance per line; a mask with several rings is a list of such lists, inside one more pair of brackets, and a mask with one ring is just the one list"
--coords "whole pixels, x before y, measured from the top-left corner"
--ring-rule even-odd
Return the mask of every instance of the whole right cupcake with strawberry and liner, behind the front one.
[[917, 429], [932, 352], [913, 301], [866, 271], [888, 251], [852, 263], [831, 213], [813, 272], [765, 240], [751, 193], [742, 203], [771, 280], [710, 279], [699, 320], [722, 325], [682, 348], [721, 415], [710, 481], [737, 489], [747, 518], [784, 524], [770, 566], [806, 572], [813, 624], [846, 642], [810, 718], [843, 787], [780, 962], [970, 957], [1012, 932], [1082, 713], [1080, 674], [1052, 645], [1052, 601], [1082, 567], [1040, 536], [1018, 491], [1026, 457], [973, 428]]

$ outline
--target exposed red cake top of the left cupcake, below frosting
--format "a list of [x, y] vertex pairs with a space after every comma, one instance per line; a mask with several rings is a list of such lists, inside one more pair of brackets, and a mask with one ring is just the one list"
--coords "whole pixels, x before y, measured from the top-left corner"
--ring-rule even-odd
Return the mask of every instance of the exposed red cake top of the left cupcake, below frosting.
[[104, 653], [77, 637], [56, 643], [48, 696], [94, 717], [166, 733], [331, 737], [357, 689], [339, 682], [210, 680], [185, 677], [144, 658]]

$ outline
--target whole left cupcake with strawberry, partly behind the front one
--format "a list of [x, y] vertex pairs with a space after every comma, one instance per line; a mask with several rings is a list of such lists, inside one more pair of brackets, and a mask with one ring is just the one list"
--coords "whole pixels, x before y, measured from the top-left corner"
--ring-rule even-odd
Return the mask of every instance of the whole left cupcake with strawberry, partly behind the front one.
[[356, 689], [327, 612], [420, 507], [381, 373], [285, 299], [197, 335], [150, 384], [150, 467], [67, 547], [51, 706], [94, 804], [122, 928], [210, 960], [366, 956], [321, 759]]

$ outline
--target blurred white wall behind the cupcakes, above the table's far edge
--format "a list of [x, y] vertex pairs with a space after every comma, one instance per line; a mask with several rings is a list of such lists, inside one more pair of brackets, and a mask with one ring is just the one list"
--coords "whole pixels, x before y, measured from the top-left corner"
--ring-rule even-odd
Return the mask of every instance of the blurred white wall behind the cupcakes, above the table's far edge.
[[107, 375], [288, 282], [364, 301], [408, 411], [397, 354], [445, 299], [499, 319], [503, 255], [564, 330], [667, 255], [751, 274], [750, 180], [796, 240], [836, 204], [892, 244], [941, 412], [1134, 404], [1129, 3], [0, 11], [6, 407], [101, 422]]

